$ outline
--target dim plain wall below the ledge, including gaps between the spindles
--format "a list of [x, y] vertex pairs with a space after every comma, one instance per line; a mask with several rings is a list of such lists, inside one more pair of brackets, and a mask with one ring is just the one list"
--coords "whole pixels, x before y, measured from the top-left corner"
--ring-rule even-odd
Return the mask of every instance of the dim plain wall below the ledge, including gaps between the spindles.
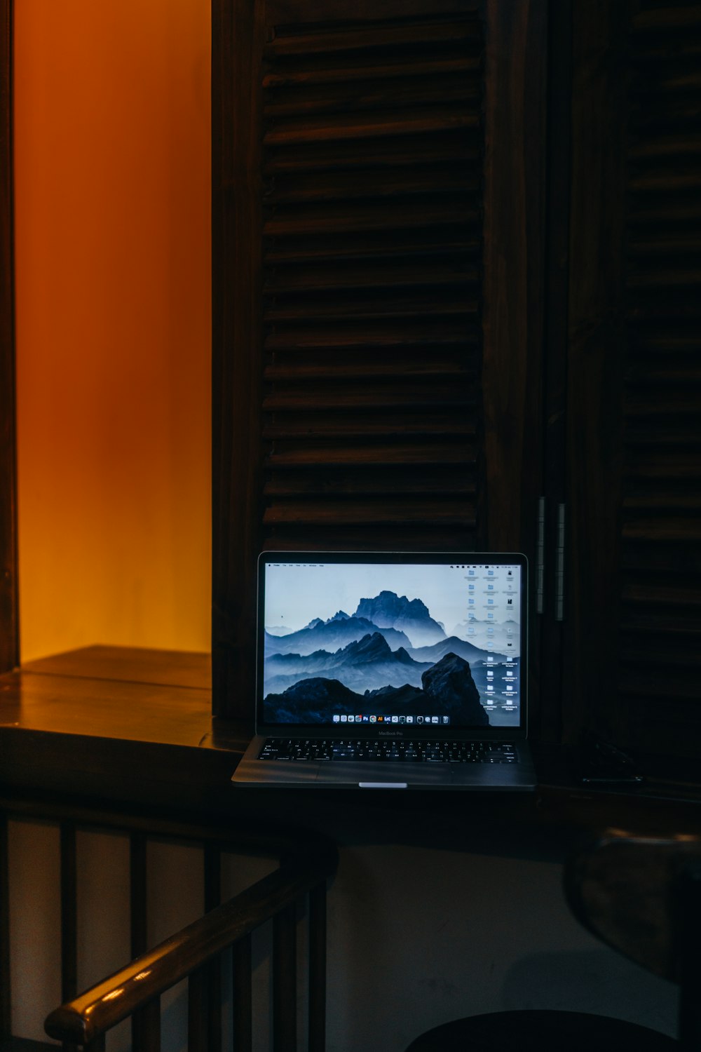
[[[371, 838], [378, 821], [368, 813]], [[470, 851], [419, 851], [394, 843], [391, 830], [385, 844], [342, 843], [329, 895], [328, 1052], [404, 1052], [432, 1026], [509, 1009], [594, 1012], [675, 1032], [676, 988], [589, 935], [564, 899], [557, 848], [529, 848], [528, 835], [510, 828], [475, 832]], [[60, 1002], [59, 833], [54, 824], [21, 821], [11, 822], [9, 833], [14, 1033], [39, 1039], [43, 1017]], [[120, 834], [80, 833], [78, 851], [82, 987], [128, 960], [128, 859]], [[149, 914], [156, 944], [198, 915], [202, 859], [193, 847], [161, 843], [150, 846], [148, 862], [158, 888]], [[225, 895], [267, 867], [231, 859]], [[37, 911], [38, 898], [55, 909]], [[269, 931], [253, 949], [253, 1048], [270, 1052]], [[176, 988], [164, 1008], [163, 1048], [184, 1052], [185, 990]], [[120, 1025], [108, 1052], [128, 1047], [128, 1026]]]

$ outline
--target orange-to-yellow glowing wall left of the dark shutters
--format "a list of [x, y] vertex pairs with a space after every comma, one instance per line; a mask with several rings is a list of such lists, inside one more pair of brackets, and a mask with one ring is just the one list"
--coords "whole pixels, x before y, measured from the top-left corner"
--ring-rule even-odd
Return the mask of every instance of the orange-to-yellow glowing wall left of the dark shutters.
[[18, 0], [22, 660], [209, 649], [209, 0]]

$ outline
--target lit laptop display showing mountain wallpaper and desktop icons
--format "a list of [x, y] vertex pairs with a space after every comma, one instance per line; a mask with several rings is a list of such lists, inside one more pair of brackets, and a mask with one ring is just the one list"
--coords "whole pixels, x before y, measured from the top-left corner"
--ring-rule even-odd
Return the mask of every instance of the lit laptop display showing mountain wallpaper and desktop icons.
[[266, 552], [259, 721], [315, 730], [518, 728], [525, 559]]

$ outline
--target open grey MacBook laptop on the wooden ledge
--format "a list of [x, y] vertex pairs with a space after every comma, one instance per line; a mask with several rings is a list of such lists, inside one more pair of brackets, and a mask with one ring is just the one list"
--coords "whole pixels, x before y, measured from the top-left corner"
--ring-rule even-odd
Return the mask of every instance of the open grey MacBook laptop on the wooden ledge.
[[528, 564], [479, 552], [259, 559], [260, 787], [529, 790]]

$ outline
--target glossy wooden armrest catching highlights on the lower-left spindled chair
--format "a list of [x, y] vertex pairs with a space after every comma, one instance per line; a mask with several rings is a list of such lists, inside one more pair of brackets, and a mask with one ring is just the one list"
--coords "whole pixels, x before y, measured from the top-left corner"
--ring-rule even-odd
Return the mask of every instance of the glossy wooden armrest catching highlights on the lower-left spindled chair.
[[61, 1005], [47, 1016], [46, 1033], [78, 1045], [95, 1040], [326, 882], [336, 863], [336, 850], [330, 843], [307, 839], [287, 854], [274, 873]]

